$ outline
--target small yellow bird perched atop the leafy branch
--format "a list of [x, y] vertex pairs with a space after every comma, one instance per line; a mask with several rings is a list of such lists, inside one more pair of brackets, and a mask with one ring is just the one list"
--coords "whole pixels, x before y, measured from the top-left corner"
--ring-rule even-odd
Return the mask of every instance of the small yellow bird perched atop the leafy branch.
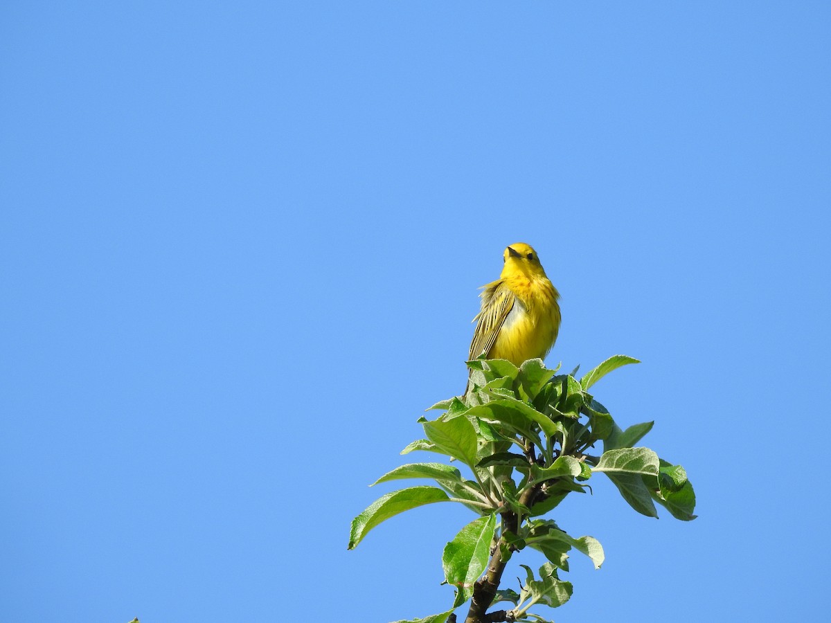
[[499, 279], [482, 286], [468, 358], [506, 359], [519, 366], [543, 359], [557, 340], [560, 294], [529, 244], [509, 245], [503, 261]]

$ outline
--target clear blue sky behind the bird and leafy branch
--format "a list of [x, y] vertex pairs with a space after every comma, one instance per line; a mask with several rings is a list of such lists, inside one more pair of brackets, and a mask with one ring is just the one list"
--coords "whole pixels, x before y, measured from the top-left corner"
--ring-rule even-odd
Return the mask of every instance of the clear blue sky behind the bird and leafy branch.
[[829, 7], [6, 2], [0, 619], [444, 610], [465, 509], [348, 525], [524, 241], [700, 514], [597, 478], [541, 614], [824, 620]]

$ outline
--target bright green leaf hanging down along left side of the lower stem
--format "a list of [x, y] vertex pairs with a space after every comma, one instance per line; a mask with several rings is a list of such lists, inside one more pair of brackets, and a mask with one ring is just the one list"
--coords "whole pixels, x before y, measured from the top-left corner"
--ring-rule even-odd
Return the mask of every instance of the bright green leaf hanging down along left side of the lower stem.
[[488, 567], [495, 529], [494, 514], [474, 519], [445, 546], [445, 552], [441, 556], [445, 580], [459, 589], [454, 607], [459, 607], [470, 599], [475, 581]]

